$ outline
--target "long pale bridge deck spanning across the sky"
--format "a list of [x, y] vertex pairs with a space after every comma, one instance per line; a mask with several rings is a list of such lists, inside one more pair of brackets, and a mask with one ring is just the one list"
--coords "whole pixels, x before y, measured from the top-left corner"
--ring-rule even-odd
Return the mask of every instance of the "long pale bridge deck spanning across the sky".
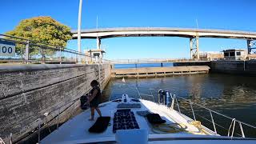
[[[78, 32], [72, 30], [73, 38]], [[256, 33], [238, 30], [210, 30], [171, 27], [126, 27], [82, 30], [81, 38], [114, 38], [114, 37], [183, 37], [183, 38], [239, 38], [256, 39]]]

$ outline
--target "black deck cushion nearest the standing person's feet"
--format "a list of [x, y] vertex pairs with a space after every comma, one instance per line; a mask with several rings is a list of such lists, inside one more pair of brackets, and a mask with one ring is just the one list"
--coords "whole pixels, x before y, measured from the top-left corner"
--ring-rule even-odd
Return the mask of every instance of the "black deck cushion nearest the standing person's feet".
[[93, 126], [90, 127], [90, 133], [102, 133], [109, 126], [110, 117], [99, 117]]

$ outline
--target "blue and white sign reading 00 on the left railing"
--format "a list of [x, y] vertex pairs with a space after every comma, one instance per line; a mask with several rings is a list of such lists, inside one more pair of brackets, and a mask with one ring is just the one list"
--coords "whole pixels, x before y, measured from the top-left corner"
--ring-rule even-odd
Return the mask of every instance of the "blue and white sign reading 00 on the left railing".
[[15, 56], [15, 43], [0, 40], [0, 56]]

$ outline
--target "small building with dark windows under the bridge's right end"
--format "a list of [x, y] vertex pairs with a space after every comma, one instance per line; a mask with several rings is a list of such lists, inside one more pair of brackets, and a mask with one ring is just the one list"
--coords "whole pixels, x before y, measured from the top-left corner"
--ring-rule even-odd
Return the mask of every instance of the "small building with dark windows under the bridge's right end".
[[223, 50], [225, 60], [245, 60], [247, 57], [246, 50]]

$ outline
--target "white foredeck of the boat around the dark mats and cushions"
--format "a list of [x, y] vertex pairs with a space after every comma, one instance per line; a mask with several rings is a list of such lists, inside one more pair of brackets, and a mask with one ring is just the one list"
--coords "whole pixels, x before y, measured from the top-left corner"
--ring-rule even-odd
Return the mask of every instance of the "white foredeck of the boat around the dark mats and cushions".
[[[190, 118], [179, 114], [177, 111], [167, 108], [166, 106], [158, 105], [157, 103], [140, 100], [141, 102], [131, 102], [130, 98], [127, 99], [126, 103], [141, 103], [141, 108], [132, 108], [131, 111], [134, 112], [135, 118], [138, 122], [140, 129], [148, 130], [149, 142], [165, 143], [170, 142], [171, 139], [168, 138], [218, 138], [219, 136], [215, 135], [211, 130], [207, 130], [209, 135], [199, 134], [198, 128], [193, 125], [190, 125], [188, 122], [191, 121]], [[123, 102], [123, 98], [122, 98]], [[107, 127], [106, 131], [101, 134], [92, 134], [88, 130], [90, 126], [94, 124], [98, 118], [98, 114], [95, 111], [94, 121], [89, 121], [90, 110], [85, 110], [82, 114], [70, 119], [68, 122], [64, 123], [59, 127], [58, 130], [54, 130], [53, 133], [48, 135], [46, 138], [42, 139], [42, 144], [46, 143], [87, 143], [87, 142], [115, 142], [115, 134], [113, 133], [113, 118], [114, 113], [117, 110], [117, 106], [122, 102], [104, 102], [100, 105], [100, 110], [102, 111], [102, 116], [110, 116], [110, 126]], [[153, 113], [159, 114], [162, 119], [166, 120], [166, 123], [182, 123], [187, 126], [188, 131], [171, 133], [171, 134], [156, 134], [152, 131], [152, 128], [147, 122], [146, 118], [139, 116], [136, 111], [149, 110]], [[192, 133], [191, 133], [192, 132]], [[193, 134], [194, 132], [194, 134]], [[159, 140], [166, 139], [166, 140]], [[216, 140], [214, 140], [216, 142]], [[182, 141], [178, 141], [182, 142]], [[187, 141], [186, 141], [187, 142]], [[202, 141], [200, 141], [202, 142]], [[246, 141], [250, 142], [250, 141]]]

